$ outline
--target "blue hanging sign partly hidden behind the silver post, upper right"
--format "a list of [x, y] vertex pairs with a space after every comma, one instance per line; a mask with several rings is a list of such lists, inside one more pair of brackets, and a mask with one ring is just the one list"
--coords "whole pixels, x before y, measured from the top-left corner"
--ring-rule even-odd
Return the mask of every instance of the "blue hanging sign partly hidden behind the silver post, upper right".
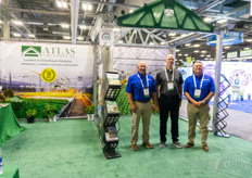
[[[216, 46], [217, 37], [216, 35], [211, 35], [206, 38], [207, 46]], [[228, 31], [224, 34], [223, 46], [231, 46], [243, 42], [243, 33]]]

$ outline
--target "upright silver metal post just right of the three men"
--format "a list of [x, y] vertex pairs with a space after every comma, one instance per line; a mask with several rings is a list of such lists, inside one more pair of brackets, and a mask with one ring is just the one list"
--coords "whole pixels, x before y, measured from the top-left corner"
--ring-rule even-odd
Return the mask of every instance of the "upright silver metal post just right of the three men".
[[215, 69], [215, 94], [214, 94], [214, 105], [213, 105], [213, 132], [217, 131], [216, 129], [216, 122], [217, 122], [217, 112], [218, 107], [217, 104], [219, 102], [218, 92], [219, 92], [219, 82], [220, 82], [220, 71], [222, 71], [222, 55], [223, 55], [223, 37], [224, 31], [220, 30], [217, 35], [217, 44], [216, 44], [216, 69]]

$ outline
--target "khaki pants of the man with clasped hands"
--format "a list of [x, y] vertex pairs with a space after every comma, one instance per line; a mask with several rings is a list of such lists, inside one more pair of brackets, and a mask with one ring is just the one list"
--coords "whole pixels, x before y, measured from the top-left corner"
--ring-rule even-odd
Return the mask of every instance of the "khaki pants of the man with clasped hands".
[[202, 145], [207, 144], [206, 138], [209, 135], [209, 130], [207, 130], [209, 113], [210, 113], [209, 104], [202, 105], [200, 107], [196, 107], [193, 104], [188, 103], [187, 105], [187, 115], [188, 115], [188, 120], [189, 120], [188, 140], [190, 143], [194, 144], [196, 125], [197, 125], [197, 119], [199, 117], [200, 118], [201, 143]]

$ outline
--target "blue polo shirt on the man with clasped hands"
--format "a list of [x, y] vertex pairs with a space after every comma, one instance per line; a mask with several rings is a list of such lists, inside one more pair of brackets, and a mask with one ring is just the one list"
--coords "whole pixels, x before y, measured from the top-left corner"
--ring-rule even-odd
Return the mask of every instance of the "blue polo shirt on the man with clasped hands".
[[[196, 74], [193, 75], [196, 76], [197, 89], [200, 89], [201, 79], [203, 77], [203, 74], [200, 77], [197, 77]], [[193, 81], [193, 75], [187, 77], [184, 84], [184, 92], [188, 92], [191, 96], [191, 98], [196, 101], [202, 101], [205, 99], [205, 97], [209, 96], [210, 92], [215, 92], [215, 86], [214, 86], [213, 78], [209, 75], [204, 75], [204, 79], [203, 79], [203, 84], [201, 88], [201, 96], [200, 98], [196, 98], [194, 97], [196, 87], [194, 87], [194, 81]]]

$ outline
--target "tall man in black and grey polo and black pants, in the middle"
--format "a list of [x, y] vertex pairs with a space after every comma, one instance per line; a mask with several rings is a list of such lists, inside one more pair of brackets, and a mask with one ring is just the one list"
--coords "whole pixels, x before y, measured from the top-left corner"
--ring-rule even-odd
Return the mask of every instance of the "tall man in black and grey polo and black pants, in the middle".
[[165, 148], [166, 142], [166, 125], [168, 118], [168, 112], [171, 112], [171, 132], [173, 144], [176, 148], [181, 149], [181, 144], [178, 142], [178, 113], [181, 104], [182, 94], [182, 75], [179, 71], [174, 68], [174, 55], [168, 54], [166, 56], [166, 66], [160, 69], [155, 77], [156, 93], [159, 97], [160, 88], [160, 148]]

